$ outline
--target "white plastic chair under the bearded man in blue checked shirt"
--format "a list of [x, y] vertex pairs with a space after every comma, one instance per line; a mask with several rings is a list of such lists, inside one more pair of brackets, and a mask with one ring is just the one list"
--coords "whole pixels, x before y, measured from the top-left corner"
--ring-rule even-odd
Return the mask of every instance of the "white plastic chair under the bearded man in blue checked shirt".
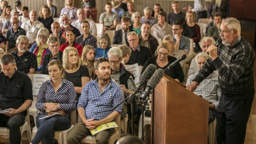
[[[116, 140], [121, 138], [121, 116], [115, 119], [115, 122], [117, 123], [117, 126], [115, 128], [115, 131], [111, 135], [111, 137], [108, 140], [109, 144], [114, 144]], [[96, 144], [95, 137], [94, 136], [87, 136], [81, 140], [82, 143], [89, 143], [89, 144]]]

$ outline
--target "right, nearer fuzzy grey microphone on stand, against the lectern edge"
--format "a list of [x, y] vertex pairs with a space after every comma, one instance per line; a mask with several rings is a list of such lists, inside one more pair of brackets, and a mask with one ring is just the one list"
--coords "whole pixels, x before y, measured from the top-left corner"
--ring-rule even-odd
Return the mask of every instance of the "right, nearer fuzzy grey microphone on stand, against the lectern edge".
[[141, 93], [139, 96], [142, 100], [145, 100], [150, 92], [150, 90], [154, 89], [156, 85], [160, 82], [161, 78], [163, 77], [164, 71], [161, 68], [158, 68], [156, 72], [152, 75], [147, 83], [147, 87], [145, 91]]

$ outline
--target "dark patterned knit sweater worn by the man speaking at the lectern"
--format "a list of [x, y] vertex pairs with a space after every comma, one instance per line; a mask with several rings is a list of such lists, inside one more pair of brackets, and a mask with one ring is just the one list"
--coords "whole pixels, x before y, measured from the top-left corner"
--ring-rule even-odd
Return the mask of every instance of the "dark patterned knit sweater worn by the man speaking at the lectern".
[[213, 70], [219, 73], [219, 88], [224, 96], [230, 99], [247, 99], [254, 94], [254, 49], [241, 37], [233, 46], [221, 44], [218, 47], [218, 57], [213, 61], [207, 59], [199, 70], [195, 81], [200, 83]]

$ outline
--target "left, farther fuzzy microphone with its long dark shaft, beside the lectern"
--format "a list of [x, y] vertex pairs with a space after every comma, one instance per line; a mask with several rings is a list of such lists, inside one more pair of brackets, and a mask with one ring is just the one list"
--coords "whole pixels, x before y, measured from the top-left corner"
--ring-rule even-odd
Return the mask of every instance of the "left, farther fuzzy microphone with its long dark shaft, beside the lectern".
[[128, 103], [132, 103], [132, 101], [135, 98], [135, 94], [137, 94], [137, 92], [141, 89], [141, 86], [147, 84], [147, 79], [150, 79], [150, 77], [154, 74], [155, 70], [156, 70], [155, 65], [150, 64], [147, 66], [145, 71], [139, 77], [139, 87], [135, 90], [135, 92], [130, 94], [130, 98], [127, 100]]

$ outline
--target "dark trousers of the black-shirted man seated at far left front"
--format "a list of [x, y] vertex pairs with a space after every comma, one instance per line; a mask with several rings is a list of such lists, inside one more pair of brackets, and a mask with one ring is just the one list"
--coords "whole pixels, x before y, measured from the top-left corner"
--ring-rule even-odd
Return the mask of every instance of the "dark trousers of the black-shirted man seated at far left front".
[[25, 116], [23, 113], [15, 114], [11, 117], [0, 114], [0, 127], [8, 127], [10, 144], [20, 144], [20, 126], [24, 124]]

